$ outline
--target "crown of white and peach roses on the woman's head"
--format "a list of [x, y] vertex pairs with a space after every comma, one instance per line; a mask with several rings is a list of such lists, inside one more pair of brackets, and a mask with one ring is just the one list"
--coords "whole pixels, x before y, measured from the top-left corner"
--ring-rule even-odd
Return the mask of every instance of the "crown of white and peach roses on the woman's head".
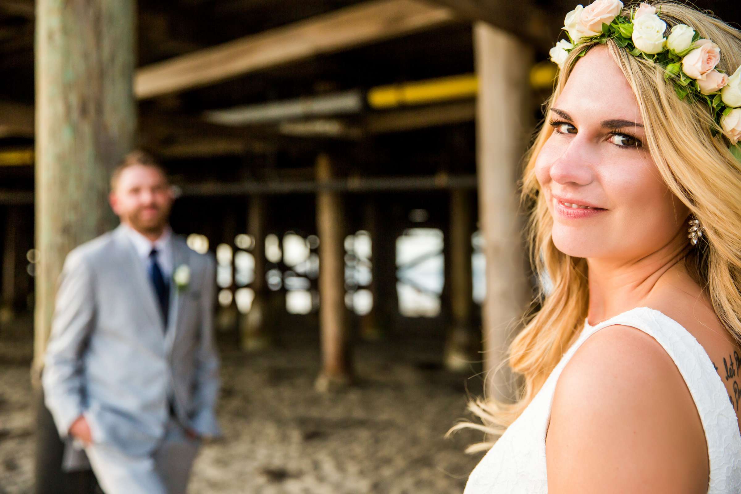
[[723, 135], [731, 141], [731, 153], [741, 161], [741, 67], [730, 77], [717, 70], [717, 44], [700, 39], [686, 24], [672, 27], [665, 38], [666, 23], [659, 19], [655, 7], [645, 3], [622, 15], [622, 1], [596, 0], [587, 7], [577, 5], [566, 14], [564, 24], [571, 41], [558, 41], [550, 52], [551, 61], [559, 68], [578, 44], [614, 40], [631, 55], [664, 67], [664, 79], [674, 82], [679, 99], [707, 102]]

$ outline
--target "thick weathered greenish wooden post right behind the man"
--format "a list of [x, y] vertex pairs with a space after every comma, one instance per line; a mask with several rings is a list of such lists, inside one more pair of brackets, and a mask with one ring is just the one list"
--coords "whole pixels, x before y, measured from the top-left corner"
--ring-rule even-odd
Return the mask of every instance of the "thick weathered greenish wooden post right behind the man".
[[[136, 130], [135, 7], [133, 0], [36, 2], [37, 389], [64, 258], [115, 225], [108, 179]], [[68, 484], [52, 427], [41, 402], [36, 493]]]

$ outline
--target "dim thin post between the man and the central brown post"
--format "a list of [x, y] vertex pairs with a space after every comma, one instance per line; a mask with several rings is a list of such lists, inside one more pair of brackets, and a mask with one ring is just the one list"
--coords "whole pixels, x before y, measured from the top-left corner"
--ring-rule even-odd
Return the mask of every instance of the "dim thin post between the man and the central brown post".
[[239, 323], [242, 350], [262, 350], [270, 346], [273, 336], [270, 334], [273, 320], [273, 307], [269, 304], [271, 293], [265, 280], [265, 230], [267, 228], [268, 198], [262, 194], [250, 196], [247, 211], [247, 233], [254, 239], [252, 256], [255, 258], [255, 278], [250, 287], [255, 293], [250, 311], [242, 316]]

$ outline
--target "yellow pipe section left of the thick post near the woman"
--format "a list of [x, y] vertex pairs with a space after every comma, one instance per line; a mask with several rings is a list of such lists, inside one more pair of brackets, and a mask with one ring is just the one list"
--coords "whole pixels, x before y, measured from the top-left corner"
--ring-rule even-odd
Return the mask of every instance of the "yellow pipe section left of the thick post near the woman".
[[427, 104], [451, 99], [475, 98], [479, 90], [476, 74], [442, 77], [426, 81], [390, 84], [368, 91], [371, 108], [393, 108], [405, 104]]

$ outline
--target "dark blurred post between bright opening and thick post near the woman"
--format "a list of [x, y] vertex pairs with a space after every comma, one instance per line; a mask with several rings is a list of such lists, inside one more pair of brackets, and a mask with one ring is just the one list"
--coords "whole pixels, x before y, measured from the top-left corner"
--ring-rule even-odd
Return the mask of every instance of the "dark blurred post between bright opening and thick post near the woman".
[[480, 335], [472, 327], [473, 269], [471, 236], [475, 224], [473, 196], [468, 190], [451, 190], [450, 221], [448, 223], [448, 259], [445, 260], [450, 290], [448, 333], [445, 338], [445, 367], [461, 372], [470, 370], [476, 361]]

